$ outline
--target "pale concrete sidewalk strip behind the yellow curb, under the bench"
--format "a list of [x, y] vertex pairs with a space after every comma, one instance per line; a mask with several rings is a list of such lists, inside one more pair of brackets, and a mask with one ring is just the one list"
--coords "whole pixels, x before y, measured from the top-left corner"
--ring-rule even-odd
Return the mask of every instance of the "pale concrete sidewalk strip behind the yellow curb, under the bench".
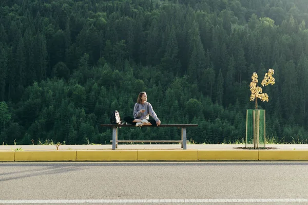
[[[187, 144], [187, 150], [240, 150], [245, 144]], [[253, 147], [248, 144], [247, 147]], [[259, 145], [264, 147], [264, 145]], [[266, 144], [275, 150], [308, 150], [308, 144]], [[0, 151], [22, 150], [56, 150], [56, 145], [0, 145]], [[59, 150], [111, 150], [108, 145], [60, 145]], [[117, 150], [183, 150], [180, 144], [119, 144]]]

